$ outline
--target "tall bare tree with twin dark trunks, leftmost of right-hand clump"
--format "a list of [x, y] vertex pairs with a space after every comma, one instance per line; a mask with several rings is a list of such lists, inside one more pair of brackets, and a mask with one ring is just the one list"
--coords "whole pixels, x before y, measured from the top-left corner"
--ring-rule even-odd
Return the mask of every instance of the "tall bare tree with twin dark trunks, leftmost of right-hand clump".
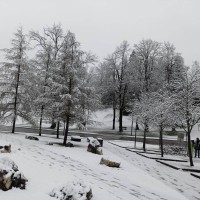
[[116, 48], [101, 66], [103, 84], [106, 93], [112, 98], [113, 129], [115, 129], [116, 108], [119, 110], [119, 131], [123, 131], [123, 112], [127, 104], [129, 85], [129, 57], [130, 48], [127, 41]]

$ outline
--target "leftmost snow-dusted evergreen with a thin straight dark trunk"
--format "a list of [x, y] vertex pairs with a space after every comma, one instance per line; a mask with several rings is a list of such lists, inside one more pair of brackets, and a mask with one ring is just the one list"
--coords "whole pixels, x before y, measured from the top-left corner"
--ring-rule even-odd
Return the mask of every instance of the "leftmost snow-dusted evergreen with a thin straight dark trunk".
[[[4, 117], [12, 118], [12, 133], [15, 132], [15, 123], [17, 116], [30, 120], [28, 113], [30, 108], [25, 107], [25, 97], [27, 87], [28, 58], [27, 50], [29, 44], [27, 36], [19, 28], [11, 40], [11, 48], [3, 49], [5, 53], [5, 62], [2, 63], [2, 75], [5, 90], [2, 92], [4, 103], [6, 103]], [[4, 107], [4, 108], [5, 108]], [[31, 121], [31, 120], [30, 120]]]

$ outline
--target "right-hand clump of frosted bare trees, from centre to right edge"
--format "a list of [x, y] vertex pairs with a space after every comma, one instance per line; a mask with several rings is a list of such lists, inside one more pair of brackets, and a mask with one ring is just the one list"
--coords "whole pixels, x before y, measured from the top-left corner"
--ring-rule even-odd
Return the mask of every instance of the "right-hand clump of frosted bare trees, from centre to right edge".
[[191, 68], [186, 67], [180, 53], [169, 42], [147, 39], [132, 49], [123, 42], [97, 68], [102, 102], [113, 107], [113, 129], [116, 110], [120, 132], [123, 131], [123, 113], [128, 111], [143, 127], [144, 151], [149, 128], [157, 127], [163, 156], [164, 129], [183, 128], [193, 166], [190, 133], [200, 120], [199, 70], [198, 62]]

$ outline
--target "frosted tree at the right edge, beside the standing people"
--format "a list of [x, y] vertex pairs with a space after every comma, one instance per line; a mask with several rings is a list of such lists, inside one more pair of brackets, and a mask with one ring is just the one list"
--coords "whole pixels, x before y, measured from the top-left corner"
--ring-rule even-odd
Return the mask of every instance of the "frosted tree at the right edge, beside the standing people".
[[182, 127], [187, 136], [187, 146], [190, 166], [193, 166], [191, 131], [200, 121], [200, 66], [194, 63], [191, 69], [185, 72], [184, 79], [176, 82], [176, 88], [171, 97], [176, 123]]

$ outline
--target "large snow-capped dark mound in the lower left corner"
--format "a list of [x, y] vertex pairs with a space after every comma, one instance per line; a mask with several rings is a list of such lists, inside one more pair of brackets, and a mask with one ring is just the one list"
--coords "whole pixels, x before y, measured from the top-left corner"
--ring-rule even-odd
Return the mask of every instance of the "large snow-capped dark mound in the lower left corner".
[[25, 189], [27, 179], [18, 170], [18, 166], [8, 158], [0, 159], [0, 189], [9, 190], [12, 187]]

